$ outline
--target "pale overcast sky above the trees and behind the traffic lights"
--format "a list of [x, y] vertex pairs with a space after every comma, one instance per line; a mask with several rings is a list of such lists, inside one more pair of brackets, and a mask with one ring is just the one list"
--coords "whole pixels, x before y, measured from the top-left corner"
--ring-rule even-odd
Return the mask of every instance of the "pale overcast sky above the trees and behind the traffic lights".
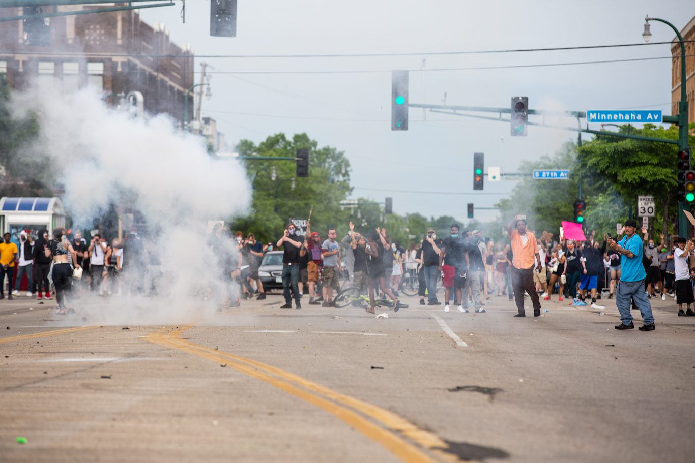
[[[171, 40], [179, 45], [190, 43], [197, 56], [305, 55], [644, 43], [641, 33], [647, 14], [680, 29], [695, 15], [695, 4], [685, 0], [239, 0], [234, 38], [210, 37], [209, 0], [186, 2], [186, 24], [181, 24], [180, 10], [181, 2], [177, 2], [177, 6], [141, 10], [141, 15], [149, 24], [163, 22]], [[651, 42], [668, 42], [675, 37], [662, 23], [653, 22], [651, 31]], [[288, 137], [306, 132], [320, 146], [345, 151], [352, 166], [355, 198], [384, 201], [385, 196], [393, 196], [393, 210], [399, 214], [448, 214], [463, 220], [466, 203], [490, 207], [509, 197], [515, 184], [513, 180], [486, 181], [484, 192], [473, 193], [474, 152], [485, 153], [486, 167], [502, 165], [503, 172], [514, 172], [524, 162], [554, 153], [565, 140], [576, 139], [577, 133], [530, 126], [528, 137], [510, 137], [509, 122], [432, 112], [427, 112], [423, 121], [423, 110], [416, 108], [410, 109], [407, 132], [391, 131], [392, 69], [412, 70], [410, 103], [443, 104], [446, 92], [448, 105], [509, 108], [512, 96], [528, 96], [532, 109], [642, 108], [670, 114], [670, 59], [436, 70], [670, 56], [669, 45], [663, 44], [448, 56], [196, 58], [196, 69], [204, 60], [220, 72], [213, 74], [213, 97], [203, 100], [203, 115], [217, 121], [218, 130], [232, 146], [242, 139], [258, 143], [278, 132]], [[427, 60], [424, 73], [419, 70], [423, 58]], [[372, 72], [224, 74], [252, 71]], [[197, 74], [196, 82], [199, 78]], [[577, 120], [553, 123], [576, 126]], [[591, 128], [598, 130], [600, 126], [592, 124]], [[479, 221], [494, 217], [494, 210], [475, 213]]]

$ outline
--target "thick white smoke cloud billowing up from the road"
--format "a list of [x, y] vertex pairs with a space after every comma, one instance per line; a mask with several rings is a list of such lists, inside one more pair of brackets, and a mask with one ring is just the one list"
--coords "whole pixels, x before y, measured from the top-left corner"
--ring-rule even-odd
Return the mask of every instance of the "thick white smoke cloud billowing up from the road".
[[149, 230], [161, 230], [156, 246], [170, 296], [113, 296], [97, 303], [85, 294], [71, 301], [78, 308], [73, 317], [119, 324], [213, 320], [218, 304], [203, 301], [208, 287], [222, 292], [221, 269], [206, 244], [206, 223], [247, 211], [251, 190], [243, 167], [211, 158], [202, 137], [177, 131], [167, 115], [133, 119], [108, 108], [91, 89], [62, 95], [34, 88], [18, 95], [15, 106], [40, 112], [39, 148], [65, 189], [74, 228], [90, 227], [126, 194], [136, 198]]

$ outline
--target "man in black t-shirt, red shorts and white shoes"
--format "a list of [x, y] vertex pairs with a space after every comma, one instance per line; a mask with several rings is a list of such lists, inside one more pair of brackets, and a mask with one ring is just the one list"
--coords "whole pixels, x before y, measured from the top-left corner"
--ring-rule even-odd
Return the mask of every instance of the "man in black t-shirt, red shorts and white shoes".
[[444, 312], [449, 312], [449, 298], [451, 288], [456, 287], [457, 301], [459, 302], [458, 312], [468, 312], [462, 305], [461, 289], [466, 283], [466, 270], [468, 269], [468, 253], [466, 252], [466, 242], [459, 236], [458, 224], [450, 227], [451, 236], [446, 237], [439, 250], [439, 271], [444, 272]]

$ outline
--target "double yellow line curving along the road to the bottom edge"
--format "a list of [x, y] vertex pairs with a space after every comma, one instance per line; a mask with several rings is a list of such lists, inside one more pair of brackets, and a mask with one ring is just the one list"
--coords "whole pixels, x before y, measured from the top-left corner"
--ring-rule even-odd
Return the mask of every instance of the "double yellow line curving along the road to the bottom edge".
[[[142, 339], [167, 348], [180, 349], [183, 352], [198, 355], [220, 364], [227, 364], [228, 367], [268, 382], [278, 389], [313, 403], [345, 421], [363, 435], [377, 441], [404, 462], [436, 463], [437, 460], [434, 460], [431, 455], [436, 455], [445, 462], [461, 461], [455, 455], [443, 451], [443, 449], [448, 448], [445, 441], [439, 439], [432, 432], [422, 430], [397, 414], [389, 412], [389, 410], [335, 392], [316, 382], [268, 364], [215, 351], [181, 339], [181, 333], [188, 328], [191, 327], [184, 326], [175, 330], [164, 328]], [[429, 452], [426, 453], [413, 442], [426, 448]]]

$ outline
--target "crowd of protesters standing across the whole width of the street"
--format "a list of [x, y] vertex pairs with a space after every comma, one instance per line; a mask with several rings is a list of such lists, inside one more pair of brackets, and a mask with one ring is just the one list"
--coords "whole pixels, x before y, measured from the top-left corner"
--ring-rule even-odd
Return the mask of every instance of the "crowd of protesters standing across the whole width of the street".
[[[292, 308], [293, 302], [295, 308], [301, 308], [304, 292], [309, 294], [310, 305], [332, 307], [344, 275], [343, 289], [354, 286], [360, 294], [369, 294], [368, 312], [374, 312], [375, 296], [388, 296], [398, 310], [399, 290], [407, 281], [416, 280], [420, 305], [441, 305], [438, 290], [443, 287], [444, 312], [450, 311], [453, 299], [457, 312], [473, 308], [484, 313], [483, 306], [491, 297], [507, 296], [516, 303], [516, 317], [525, 317], [524, 299], [528, 297], [537, 317], [541, 298], [549, 301], [557, 294], [559, 302], [571, 298], [570, 305], [580, 307], [590, 301], [592, 308], [603, 308], [597, 303], [602, 297], [616, 297], [623, 315], [619, 329], [630, 329], [630, 306], [643, 311], [646, 326], [653, 329], [648, 300], [655, 297], [672, 297], [679, 305], [679, 316], [695, 316], [695, 266], [690, 262], [695, 264], [695, 242], [678, 239], [669, 246], [660, 235], [657, 245], [644, 228], [639, 238], [637, 222], [631, 219], [621, 230], [625, 237], [620, 242], [607, 234], [599, 242], [595, 232], [582, 240], [562, 235], [554, 240], [546, 231], [537, 238], [527, 229], [525, 216], [518, 214], [507, 225], [508, 242], [494, 243], [481, 230], [462, 230], [452, 224], [447, 236], [438, 238], [430, 228], [422, 242], [411, 242], [408, 249], [391, 242], [384, 228], [366, 236], [357, 233], [352, 222], [349, 228], [340, 241], [335, 228], [329, 228], [322, 240], [306, 221], [305, 239], [290, 223], [274, 245], [262, 244], [253, 233], [232, 234], [215, 224], [206, 245], [220, 267], [219, 283], [224, 288], [217, 292], [222, 294], [218, 296], [220, 310], [253, 296], [265, 299], [259, 267], [265, 253], [282, 249], [279, 280], [284, 309]], [[154, 239], [141, 239], [136, 227], [112, 242], [99, 234], [87, 241], [81, 232], [65, 228], [56, 228], [51, 236], [47, 230], [39, 230], [35, 237], [28, 232], [19, 234], [19, 246], [10, 241], [10, 233], [0, 242], [0, 278], [4, 282], [8, 277], [10, 299], [21, 294], [26, 279], [26, 296], [50, 300], [52, 291], [58, 303], [56, 312], [65, 314], [74, 311], [70, 300], [85, 292], [152, 296], [164, 278]], [[73, 278], [78, 269], [85, 276], [79, 281]], [[211, 287], [207, 292], [212, 297]], [[0, 299], [4, 297], [0, 287]]]

